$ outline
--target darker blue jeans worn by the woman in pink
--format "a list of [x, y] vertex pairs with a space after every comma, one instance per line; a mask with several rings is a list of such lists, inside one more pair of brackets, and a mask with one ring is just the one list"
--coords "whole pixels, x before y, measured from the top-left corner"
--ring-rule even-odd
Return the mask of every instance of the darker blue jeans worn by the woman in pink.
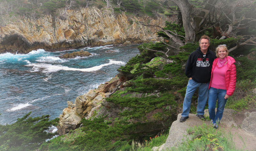
[[[227, 99], [224, 99], [227, 91], [224, 89], [216, 89], [213, 87], [210, 87], [209, 89], [209, 99], [208, 99], [208, 111], [209, 111], [209, 117], [212, 119], [213, 123], [219, 124], [225, 104], [227, 102]], [[216, 101], [218, 99], [218, 105], [217, 105], [217, 112], [215, 114], [215, 106]]]

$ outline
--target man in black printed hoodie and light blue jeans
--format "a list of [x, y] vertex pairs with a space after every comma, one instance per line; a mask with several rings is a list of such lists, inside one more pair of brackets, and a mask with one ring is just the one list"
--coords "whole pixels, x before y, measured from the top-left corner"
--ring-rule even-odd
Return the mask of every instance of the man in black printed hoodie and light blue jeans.
[[204, 107], [208, 98], [208, 87], [211, 79], [212, 62], [216, 55], [208, 49], [210, 38], [203, 35], [199, 40], [199, 46], [192, 52], [186, 63], [185, 75], [189, 78], [187, 90], [183, 102], [183, 111], [180, 122], [185, 122], [190, 111], [191, 99], [198, 88], [198, 99], [196, 116], [202, 120], [204, 117]]

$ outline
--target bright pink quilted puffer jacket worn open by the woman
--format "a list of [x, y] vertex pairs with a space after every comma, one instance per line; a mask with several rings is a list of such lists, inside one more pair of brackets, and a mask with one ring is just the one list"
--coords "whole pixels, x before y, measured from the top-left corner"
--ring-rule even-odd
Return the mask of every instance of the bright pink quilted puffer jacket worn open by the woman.
[[[217, 61], [219, 58], [214, 59], [212, 63], [212, 72], [217, 65]], [[226, 79], [226, 90], [227, 90], [227, 95], [231, 96], [236, 88], [236, 65], [235, 65], [235, 59], [228, 56], [227, 57], [228, 63], [227, 63], [227, 71], [225, 73], [225, 79]], [[212, 75], [211, 75], [211, 81], [212, 81]], [[211, 85], [210, 81], [210, 85]], [[209, 88], [210, 88], [209, 85]]]

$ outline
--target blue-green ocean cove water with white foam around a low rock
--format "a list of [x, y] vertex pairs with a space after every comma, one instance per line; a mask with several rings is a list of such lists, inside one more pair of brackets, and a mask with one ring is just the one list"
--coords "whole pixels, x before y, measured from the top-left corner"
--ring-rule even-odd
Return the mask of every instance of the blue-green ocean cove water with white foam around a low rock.
[[58, 56], [81, 49], [0, 54], [0, 124], [12, 124], [30, 111], [31, 117], [59, 117], [67, 101], [112, 79], [139, 54], [137, 46], [84, 48], [92, 56], [72, 59]]

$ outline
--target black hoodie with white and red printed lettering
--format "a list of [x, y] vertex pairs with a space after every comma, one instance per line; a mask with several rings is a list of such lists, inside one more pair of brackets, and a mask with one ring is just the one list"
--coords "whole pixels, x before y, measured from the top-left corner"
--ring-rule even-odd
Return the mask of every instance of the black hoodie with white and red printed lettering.
[[203, 58], [204, 54], [201, 51], [201, 48], [198, 47], [196, 51], [189, 55], [185, 68], [185, 75], [199, 83], [210, 82], [212, 62], [217, 57], [208, 48], [205, 54], [205, 62], [203, 62]]

